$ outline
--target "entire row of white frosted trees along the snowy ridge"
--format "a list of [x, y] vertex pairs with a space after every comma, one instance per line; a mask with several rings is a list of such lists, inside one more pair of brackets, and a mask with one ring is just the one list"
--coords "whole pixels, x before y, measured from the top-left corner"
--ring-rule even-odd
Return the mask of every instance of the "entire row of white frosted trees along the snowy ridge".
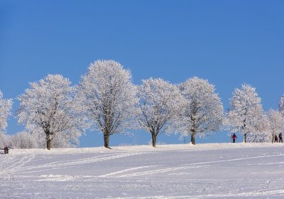
[[[62, 75], [48, 75], [18, 97], [16, 117], [30, 134], [43, 138], [47, 149], [55, 140], [77, 141], [87, 129], [102, 131], [104, 146], [109, 137], [129, 129], [144, 129], [155, 147], [159, 134], [180, 133], [208, 136], [215, 131], [239, 131], [246, 141], [273, 141], [283, 129], [284, 97], [279, 110], [263, 112], [255, 88], [242, 85], [233, 92], [224, 114], [214, 85], [192, 77], [179, 85], [160, 78], [133, 85], [131, 72], [113, 60], [97, 60], [89, 65], [78, 85]], [[7, 126], [11, 99], [0, 92], [0, 129]], [[248, 140], [249, 139], [249, 140]]]

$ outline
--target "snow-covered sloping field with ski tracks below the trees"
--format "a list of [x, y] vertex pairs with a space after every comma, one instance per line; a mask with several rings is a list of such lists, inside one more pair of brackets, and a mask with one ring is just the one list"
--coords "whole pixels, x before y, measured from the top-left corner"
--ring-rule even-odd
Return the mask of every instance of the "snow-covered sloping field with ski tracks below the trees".
[[283, 144], [13, 149], [0, 198], [284, 198]]

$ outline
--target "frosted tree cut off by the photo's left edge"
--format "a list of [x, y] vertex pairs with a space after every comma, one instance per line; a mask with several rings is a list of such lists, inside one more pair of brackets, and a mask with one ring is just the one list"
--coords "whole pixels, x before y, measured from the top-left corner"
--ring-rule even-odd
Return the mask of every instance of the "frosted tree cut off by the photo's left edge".
[[12, 99], [4, 99], [3, 93], [0, 91], [0, 131], [4, 131], [7, 127], [7, 119], [11, 115]]

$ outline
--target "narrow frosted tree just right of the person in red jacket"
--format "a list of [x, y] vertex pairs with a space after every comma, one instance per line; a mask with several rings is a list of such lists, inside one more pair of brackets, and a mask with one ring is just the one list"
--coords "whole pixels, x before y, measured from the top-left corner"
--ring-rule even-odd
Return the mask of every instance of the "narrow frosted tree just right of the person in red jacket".
[[258, 97], [256, 88], [242, 85], [236, 88], [230, 99], [230, 108], [226, 113], [226, 126], [229, 131], [239, 131], [244, 135], [244, 142], [249, 134], [261, 131], [263, 122], [263, 108], [261, 97]]

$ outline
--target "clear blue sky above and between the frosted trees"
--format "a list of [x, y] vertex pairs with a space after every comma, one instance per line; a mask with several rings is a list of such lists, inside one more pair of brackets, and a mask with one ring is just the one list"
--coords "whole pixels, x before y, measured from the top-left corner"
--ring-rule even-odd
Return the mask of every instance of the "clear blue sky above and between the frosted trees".
[[[231, 92], [256, 87], [263, 108], [284, 94], [284, 1], [0, 1], [0, 90], [16, 98], [48, 74], [77, 84], [97, 59], [129, 68], [133, 82], [197, 76], [215, 85], [224, 109]], [[14, 102], [16, 112], [18, 102]], [[23, 130], [9, 119], [7, 132]], [[110, 145], [146, 144], [150, 134], [111, 136]], [[241, 138], [240, 138], [241, 139]], [[87, 132], [81, 147], [102, 146]], [[158, 141], [182, 143], [178, 136]], [[188, 141], [188, 140], [187, 140]], [[197, 142], [229, 141], [220, 132]]]

